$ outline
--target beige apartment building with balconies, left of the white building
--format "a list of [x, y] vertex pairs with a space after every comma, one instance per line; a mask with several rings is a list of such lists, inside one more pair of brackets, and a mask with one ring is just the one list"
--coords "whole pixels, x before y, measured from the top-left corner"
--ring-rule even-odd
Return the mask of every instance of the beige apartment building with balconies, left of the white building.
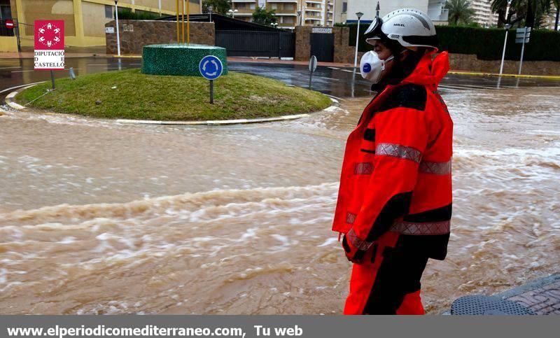
[[236, 19], [245, 21], [253, 19], [257, 6], [274, 10], [278, 27], [285, 29], [297, 25], [332, 27], [335, 1], [339, 0], [232, 0], [232, 10]]

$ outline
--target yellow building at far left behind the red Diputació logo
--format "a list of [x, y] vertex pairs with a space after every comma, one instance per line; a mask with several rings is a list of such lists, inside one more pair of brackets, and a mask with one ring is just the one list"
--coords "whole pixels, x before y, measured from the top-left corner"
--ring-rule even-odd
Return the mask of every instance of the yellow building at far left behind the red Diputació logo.
[[[202, 0], [188, 0], [190, 13], [200, 14]], [[8, 6], [5, 6], [9, 3]], [[105, 24], [113, 20], [114, 0], [4, 0], [2, 15], [25, 24], [35, 20], [64, 20], [66, 45], [88, 47], [105, 45]], [[118, 8], [174, 15], [175, 0], [118, 0]], [[25, 31], [22, 30], [23, 33]], [[32, 34], [32, 32], [30, 33]], [[22, 39], [22, 44], [33, 41]]]

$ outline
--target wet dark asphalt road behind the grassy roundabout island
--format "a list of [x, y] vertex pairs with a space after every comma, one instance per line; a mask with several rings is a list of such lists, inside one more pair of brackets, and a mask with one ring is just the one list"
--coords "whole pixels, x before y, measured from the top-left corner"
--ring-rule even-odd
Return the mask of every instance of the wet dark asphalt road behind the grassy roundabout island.
[[[76, 76], [102, 71], [139, 68], [141, 59], [113, 59], [108, 57], [79, 57], [66, 59], [66, 68], [72, 67]], [[276, 78], [290, 85], [309, 87], [307, 66], [290, 64], [255, 64], [230, 62], [229, 69]], [[56, 71], [55, 78], [66, 78], [69, 71]], [[50, 72], [34, 71], [33, 59], [0, 59], [0, 99], [3, 101], [10, 88], [50, 80]], [[502, 78], [489, 76], [449, 75], [444, 78], [442, 89], [481, 88], [498, 89], [525, 86], [560, 86], [559, 80], [533, 78]], [[370, 84], [353, 69], [319, 66], [313, 75], [312, 88], [335, 97], [360, 97], [371, 94]]]

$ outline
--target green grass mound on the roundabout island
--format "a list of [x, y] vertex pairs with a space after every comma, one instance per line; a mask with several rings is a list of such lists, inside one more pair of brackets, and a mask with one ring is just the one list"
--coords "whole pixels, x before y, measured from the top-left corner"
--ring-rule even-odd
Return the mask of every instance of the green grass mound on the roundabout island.
[[168, 121], [269, 118], [320, 111], [331, 104], [319, 92], [235, 72], [214, 80], [214, 104], [209, 103], [209, 81], [202, 77], [146, 75], [139, 69], [62, 79], [56, 85], [47, 94], [50, 81], [36, 85], [15, 99], [56, 113]]

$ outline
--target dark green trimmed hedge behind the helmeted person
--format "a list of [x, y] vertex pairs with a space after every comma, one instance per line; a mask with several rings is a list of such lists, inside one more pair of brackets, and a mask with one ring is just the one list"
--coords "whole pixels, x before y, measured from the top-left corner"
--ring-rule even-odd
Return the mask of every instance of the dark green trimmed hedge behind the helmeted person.
[[[349, 45], [356, 45], [357, 24], [341, 25], [350, 28]], [[369, 24], [360, 24], [363, 36]], [[465, 26], [437, 26], [440, 50], [461, 54], [475, 54], [479, 59], [498, 60], [502, 58], [504, 29], [488, 29]], [[360, 39], [358, 50], [367, 52], [372, 46]], [[507, 36], [505, 59], [518, 60], [521, 55], [521, 43], [515, 43], [515, 29], [510, 29]], [[526, 61], [560, 61], [560, 32], [538, 29], [531, 31], [531, 39], [525, 45]]]

